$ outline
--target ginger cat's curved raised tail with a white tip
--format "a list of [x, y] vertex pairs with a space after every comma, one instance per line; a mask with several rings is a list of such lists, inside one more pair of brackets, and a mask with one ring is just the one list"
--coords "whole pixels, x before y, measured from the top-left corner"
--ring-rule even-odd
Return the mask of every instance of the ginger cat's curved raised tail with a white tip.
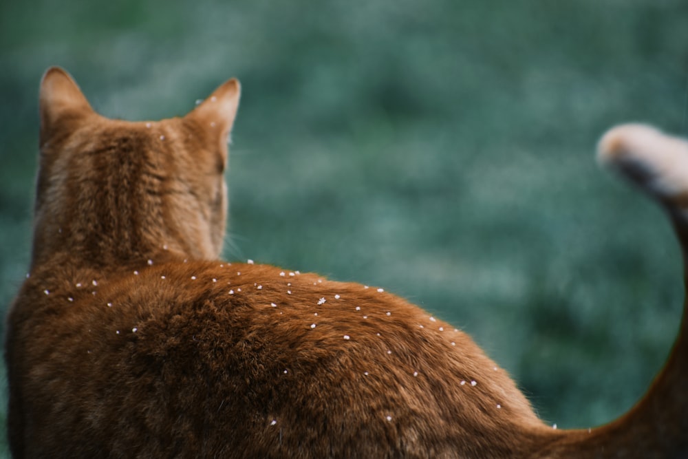
[[[667, 210], [688, 288], [688, 141], [646, 125], [621, 125], [602, 137], [598, 159]], [[688, 458], [688, 302], [682, 314], [669, 359], [641, 401], [608, 425], [560, 431], [540, 457]]]

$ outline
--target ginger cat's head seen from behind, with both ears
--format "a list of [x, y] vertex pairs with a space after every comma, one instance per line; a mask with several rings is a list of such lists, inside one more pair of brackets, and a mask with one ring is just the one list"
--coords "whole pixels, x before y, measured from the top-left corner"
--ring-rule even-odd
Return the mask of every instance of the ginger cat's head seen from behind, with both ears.
[[67, 72], [47, 70], [32, 264], [65, 250], [96, 263], [217, 258], [239, 94], [230, 79], [186, 116], [129, 122], [97, 114]]

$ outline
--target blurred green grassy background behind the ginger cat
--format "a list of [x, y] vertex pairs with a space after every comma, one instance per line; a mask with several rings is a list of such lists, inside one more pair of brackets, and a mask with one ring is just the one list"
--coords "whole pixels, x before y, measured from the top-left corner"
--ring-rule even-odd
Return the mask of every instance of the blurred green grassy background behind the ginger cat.
[[471, 334], [548, 422], [604, 423], [663, 365], [682, 289], [669, 224], [594, 146], [617, 122], [688, 133], [687, 19], [682, 0], [4, 1], [1, 308], [49, 65], [128, 119], [237, 76], [228, 259], [384, 286]]

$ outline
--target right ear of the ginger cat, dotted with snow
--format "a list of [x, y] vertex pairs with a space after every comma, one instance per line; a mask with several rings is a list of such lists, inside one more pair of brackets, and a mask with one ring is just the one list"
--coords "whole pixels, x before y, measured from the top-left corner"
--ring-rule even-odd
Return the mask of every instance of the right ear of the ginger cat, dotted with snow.
[[224, 141], [234, 125], [240, 95], [239, 80], [232, 78], [215, 89], [213, 94], [184, 118], [195, 120], [208, 129], [218, 129]]

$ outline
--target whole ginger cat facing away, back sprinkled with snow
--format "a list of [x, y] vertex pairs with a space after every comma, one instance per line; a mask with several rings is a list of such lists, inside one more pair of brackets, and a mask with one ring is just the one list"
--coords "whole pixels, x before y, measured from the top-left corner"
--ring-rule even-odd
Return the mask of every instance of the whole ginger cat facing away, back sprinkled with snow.
[[[8, 315], [17, 458], [679, 458], [686, 324], [610, 425], [544, 425], [451, 325], [381, 288], [218, 261], [230, 80], [184, 118], [109, 120], [52, 68], [30, 276]], [[688, 144], [622, 127], [603, 159], [688, 234]]]

